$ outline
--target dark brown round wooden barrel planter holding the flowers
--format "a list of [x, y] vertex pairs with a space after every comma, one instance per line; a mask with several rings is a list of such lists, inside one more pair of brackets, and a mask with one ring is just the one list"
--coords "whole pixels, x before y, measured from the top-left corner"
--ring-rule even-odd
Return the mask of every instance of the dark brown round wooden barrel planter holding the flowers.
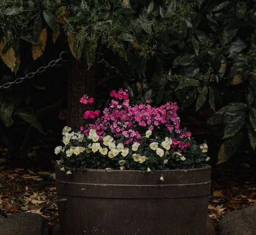
[[61, 235], [206, 235], [211, 167], [162, 174], [57, 166]]

